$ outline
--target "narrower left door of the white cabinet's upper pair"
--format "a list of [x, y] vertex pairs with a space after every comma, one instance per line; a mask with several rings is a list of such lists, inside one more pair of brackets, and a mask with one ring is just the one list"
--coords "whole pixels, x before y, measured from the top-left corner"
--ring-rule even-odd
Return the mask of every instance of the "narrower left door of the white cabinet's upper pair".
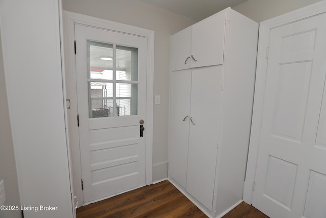
[[171, 36], [172, 71], [188, 69], [191, 63], [192, 27]]

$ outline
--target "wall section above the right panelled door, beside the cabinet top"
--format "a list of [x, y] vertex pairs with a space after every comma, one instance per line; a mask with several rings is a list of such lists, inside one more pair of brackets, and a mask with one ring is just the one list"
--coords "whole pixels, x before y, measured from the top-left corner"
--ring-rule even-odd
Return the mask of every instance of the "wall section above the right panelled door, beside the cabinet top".
[[232, 9], [260, 22], [319, 1], [320, 0], [248, 0]]

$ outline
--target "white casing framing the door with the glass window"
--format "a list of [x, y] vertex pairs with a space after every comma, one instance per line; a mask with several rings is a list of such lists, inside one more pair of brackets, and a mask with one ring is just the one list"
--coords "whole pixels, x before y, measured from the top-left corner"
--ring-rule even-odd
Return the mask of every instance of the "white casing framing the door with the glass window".
[[[145, 176], [143, 178], [142, 184], [151, 184], [152, 183], [152, 116], [153, 116], [153, 49], [154, 49], [154, 32], [145, 30], [142, 28], [137, 28], [137, 27], [132, 27], [128, 25], [122, 25], [121, 23], [116, 23], [108, 20], [103, 20], [99, 18], [94, 18], [94, 17], [89, 17], [85, 15], [80, 15], [76, 13], [71, 13], [64, 11], [64, 18], [65, 18], [65, 52], [66, 52], [66, 71], [68, 71], [67, 75], [67, 98], [71, 100], [71, 109], [68, 110], [68, 118], [69, 118], [69, 131], [70, 131], [70, 142], [71, 142], [71, 147], [72, 147], [72, 160], [73, 160], [73, 180], [74, 180], [74, 189], [76, 196], [78, 197], [78, 206], [82, 206], [83, 203], [88, 204], [93, 201], [90, 199], [84, 199], [83, 197], [83, 191], [82, 191], [82, 185], [80, 183], [80, 179], [82, 179], [82, 170], [80, 166], [80, 155], [79, 155], [79, 137], [78, 137], [78, 128], [77, 128], [77, 122], [76, 122], [76, 116], [78, 114], [77, 111], [77, 84], [76, 84], [76, 68], [75, 68], [75, 55], [74, 55], [74, 47], [73, 47], [73, 42], [74, 42], [74, 27], [75, 25], [84, 25], [88, 26], [89, 28], [97, 28], [98, 30], [101, 29], [101, 31], [112, 31], [117, 34], [123, 34], [125, 36], [133, 36], [133, 37], [138, 37], [138, 38], [143, 38], [145, 39], [145, 61], [143, 64], [143, 69], [147, 69], [145, 71], [145, 99], [143, 102], [139, 102], [141, 105], [145, 105], [145, 113], [146, 113], [146, 120], [145, 120], [145, 134], [144, 137], [142, 138], [143, 141], [146, 143], [146, 148], [144, 148], [143, 153], [145, 154], [146, 152], [146, 159], [144, 158], [143, 165], [146, 165], [146, 173], [144, 172]], [[103, 40], [105, 42], [105, 40]], [[122, 43], [122, 45], [128, 45], [128, 43]], [[131, 46], [132, 47], [132, 46]], [[78, 52], [77, 52], [78, 54]], [[144, 73], [144, 72], [143, 72]], [[79, 95], [79, 92], [78, 92]], [[79, 102], [78, 102], [79, 103]], [[87, 107], [88, 110], [88, 107]], [[133, 117], [129, 116], [128, 118]], [[80, 117], [82, 118], [82, 117]], [[125, 124], [127, 117], [116, 117], [116, 118], [122, 118], [120, 123]], [[101, 118], [95, 118], [100, 120]], [[134, 118], [137, 120], [137, 136], [139, 136], [139, 121], [141, 118]], [[91, 120], [91, 119], [90, 119]], [[97, 121], [98, 121], [97, 120]], [[134, 120], [134, 121], [135, 121]], [[80, 119], [80, 122], [82, 122], [82, 119]], [[98, 123], [98, 122], [95, 122]], [[82, 125], [80, 123], [80, 125]], [[94, 127], [94, 122], [89, 122], [88, 125], [90, 127]], [[98, 123], [99, 128], [103, 128], [106, 124], [105, 122], [100, 122]], [[102, 125], [102, 126], [101, 126]], [[104, 125], [104, 126], [103, 126]], [[129, 126], [130, 127], [130, 126]], [[129, 128], [128, 127], [128, 128]], [[128, 129], [127, 128], [127, 129]], [[132, 129], [132, 128], [129, 128]], [[135, 128], [132, 131], [133, 134], [135, 134]], [[124, 134], [123, 134], [124, 135]], [[83, 135], [84, 137], [85, 135]], [[121, 184], [123, 186], [123, 184]], [[128, 187], [124, 186], [127, 190]], [[84, 181], [84, 188], [85, 188], [85, 181]], [[129, 188], [130, 189], [130, 188]], [[119, 192], [124, 192], [126, 190], [118, 190]], [[102, 192], [102, 191], [100, 191]], [[112, 194], [115, 195], [116, 193]], [[110, 197], [110, 196], [108, 196]], [[103, 197], [107, 198], [107, 197]], [[96, 201], [96, 200], [95, 200]], [[87, 203], [88, 202], [88, 203]]]

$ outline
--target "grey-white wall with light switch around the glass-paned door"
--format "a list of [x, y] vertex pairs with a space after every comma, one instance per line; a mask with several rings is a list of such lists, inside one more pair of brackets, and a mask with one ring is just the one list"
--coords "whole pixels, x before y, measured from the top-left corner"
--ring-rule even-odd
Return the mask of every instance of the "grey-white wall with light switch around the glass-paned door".
[[63, 0], [63, 9], [155, 31], [153, 181], [167, 178], [170, 36], [195, 21], [139, 0]]

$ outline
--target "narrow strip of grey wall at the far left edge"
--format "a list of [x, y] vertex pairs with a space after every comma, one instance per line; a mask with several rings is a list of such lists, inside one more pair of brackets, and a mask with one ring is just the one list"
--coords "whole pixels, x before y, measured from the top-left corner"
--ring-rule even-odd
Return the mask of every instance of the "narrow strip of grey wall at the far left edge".
[[[0, 21], [1, 23], [1, 21]], [[1, 24], [0, 24], [1, 26]], [[5, 67], [2, 54], [1, 31], [0, 31], [0, 181], [4, 180], [6, 201], [5, 205], [20, 205], [18, 180], [12, 142], [7, 91], [5, 83]], [[21, 212], [2, 211], [2, 218], [18, 218]]]

